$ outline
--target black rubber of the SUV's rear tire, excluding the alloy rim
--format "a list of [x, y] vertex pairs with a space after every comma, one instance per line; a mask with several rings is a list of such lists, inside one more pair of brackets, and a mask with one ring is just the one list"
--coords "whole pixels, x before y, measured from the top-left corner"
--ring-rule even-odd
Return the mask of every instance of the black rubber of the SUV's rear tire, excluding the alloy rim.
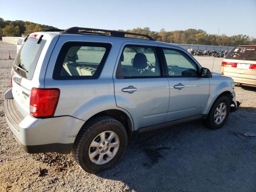
[[[105, 164], [95, 164], [89, 158], [90, 144], [100, 133], [110, 131], [118, 135], [119, 148], [116, 155]], [[128, 143], [124, 126], [116, 119], [108, 116], [98, 116], [86, 122], [78, 133], [73, 146], [73, 158], [83, 170], [88, 173], [98, 173], [111, 168], [122, 158]]]

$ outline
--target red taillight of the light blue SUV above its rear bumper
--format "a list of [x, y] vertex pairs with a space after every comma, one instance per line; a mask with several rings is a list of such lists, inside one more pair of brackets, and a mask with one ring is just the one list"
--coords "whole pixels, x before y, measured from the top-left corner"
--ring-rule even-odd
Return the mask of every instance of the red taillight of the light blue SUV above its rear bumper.
[[32, 88], [30, 94], [30, 114], [34, 117], [53, 116], [59, 97], [59, 89]]

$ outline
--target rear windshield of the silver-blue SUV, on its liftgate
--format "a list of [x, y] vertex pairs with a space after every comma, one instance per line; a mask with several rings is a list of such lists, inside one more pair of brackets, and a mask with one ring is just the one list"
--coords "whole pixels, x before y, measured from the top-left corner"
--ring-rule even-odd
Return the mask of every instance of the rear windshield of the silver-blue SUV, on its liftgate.
[[45, 40], [41, 40], [37, 44], [37, 41], [38, 39], [36, 38], [28, 38], [20, 48], [13, 64], [14, 71], [28, 80], [32, 80], [38, 58], [46, 42]]

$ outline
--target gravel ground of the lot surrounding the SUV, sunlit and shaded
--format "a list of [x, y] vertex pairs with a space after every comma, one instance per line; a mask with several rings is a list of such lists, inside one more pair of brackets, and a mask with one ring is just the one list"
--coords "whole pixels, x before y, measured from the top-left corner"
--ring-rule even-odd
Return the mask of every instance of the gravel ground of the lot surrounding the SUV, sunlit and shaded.
[[[82, 171], [71, 155], [26, 154], [4, 117], [3, 94], [10, 88], [16, 46], [0, 42], [0, 191], [174, 191], [255, 192], [256, 88], [236, 87], [240, 110], [220, 130], [200, 121], [132, 138], [116, 167], [100, 174]], [[211, 68], [212, 57], [196, 57]], [[222, 58], [215, 58], [219, 72]]]

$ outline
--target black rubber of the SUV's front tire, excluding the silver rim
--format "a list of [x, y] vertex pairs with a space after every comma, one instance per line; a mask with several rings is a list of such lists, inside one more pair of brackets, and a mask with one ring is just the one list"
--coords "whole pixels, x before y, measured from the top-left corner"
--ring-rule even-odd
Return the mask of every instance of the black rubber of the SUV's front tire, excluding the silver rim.
[[[226, 104], [226, 116], [220, 124], [216, 124], [216, 122], [214, 120], [214, 114], [215, 114], [217, 107], [221, 103]], [[228, 119], [229, 113], [230, 113], [230, 98], [228, 96], [221, 96], [212, 105], [212, 108], [210, 109], [210, 112], [209, 112], [207, 118], [204, 120], [204, 124], [214, 130], [222, 128], [222, 126], [224, 126], [224, 124], [226, 123], [226, 121]]]

